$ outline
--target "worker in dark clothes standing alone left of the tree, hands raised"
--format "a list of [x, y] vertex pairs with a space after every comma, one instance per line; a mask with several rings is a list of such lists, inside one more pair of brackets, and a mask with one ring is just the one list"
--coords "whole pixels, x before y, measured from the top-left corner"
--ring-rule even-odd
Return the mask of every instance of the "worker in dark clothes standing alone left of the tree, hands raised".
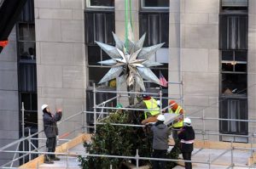
[[[55, 115], [51, 114], [49, 106], [47, 104], [42, 105], [43, 121], [44, 121], [44, 133], [47, 138], [46, 148], [48, 152], [55, 152], [56, 136], [58, 135], [57, 121], [61, 120], [62, 112], [57, 110]], [[53, 164], [53, 161], [60, 161], [55, 155], [44, 155], [44, 163]]]

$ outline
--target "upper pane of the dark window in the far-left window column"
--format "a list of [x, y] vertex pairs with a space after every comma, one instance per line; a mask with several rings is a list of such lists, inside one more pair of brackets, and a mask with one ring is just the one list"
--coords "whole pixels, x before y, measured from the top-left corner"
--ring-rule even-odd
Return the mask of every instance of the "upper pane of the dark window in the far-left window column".
[[35, 41], [35, 25], [34, 24], [18, 24], [20, 41]]

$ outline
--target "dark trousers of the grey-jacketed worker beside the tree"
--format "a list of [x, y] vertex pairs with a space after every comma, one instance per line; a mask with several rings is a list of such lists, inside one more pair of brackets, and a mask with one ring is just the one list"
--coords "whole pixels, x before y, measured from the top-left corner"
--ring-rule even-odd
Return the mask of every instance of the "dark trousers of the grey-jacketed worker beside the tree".
[[[154, 149], [153, 158], [166, 158], [166, 149]], [[166, 161], [153, 161], [153, 169], [166, 169]]]

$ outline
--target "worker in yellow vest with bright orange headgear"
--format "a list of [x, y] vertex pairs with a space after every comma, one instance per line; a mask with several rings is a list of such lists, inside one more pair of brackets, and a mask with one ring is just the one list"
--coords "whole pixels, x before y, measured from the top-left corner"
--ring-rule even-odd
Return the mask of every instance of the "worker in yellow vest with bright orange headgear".
[[175, 146], [179, 147], [179, 139], [177, 138], [177, 131], [183, 127], [183, 108], [179, 106], [176, 101], [171, 100], [169, 102], [169, 113], [174, 113], [177, 116], [180, 115], [176, 120], [173, 121], [172, 124], [172, 138], [175, 142]]

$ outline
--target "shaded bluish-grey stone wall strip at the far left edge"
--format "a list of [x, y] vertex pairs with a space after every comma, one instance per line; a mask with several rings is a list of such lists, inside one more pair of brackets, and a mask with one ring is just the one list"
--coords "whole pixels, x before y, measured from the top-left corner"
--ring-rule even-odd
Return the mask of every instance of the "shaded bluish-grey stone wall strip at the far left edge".
[[[16, 28], [0, 54], [0, 147], [19, 139], [19, 94], [17, 76]], [[11, 147], [8, 150], [15, 150]], [[0, 153], [0, 166], [11, 161], [13, 153]]]

